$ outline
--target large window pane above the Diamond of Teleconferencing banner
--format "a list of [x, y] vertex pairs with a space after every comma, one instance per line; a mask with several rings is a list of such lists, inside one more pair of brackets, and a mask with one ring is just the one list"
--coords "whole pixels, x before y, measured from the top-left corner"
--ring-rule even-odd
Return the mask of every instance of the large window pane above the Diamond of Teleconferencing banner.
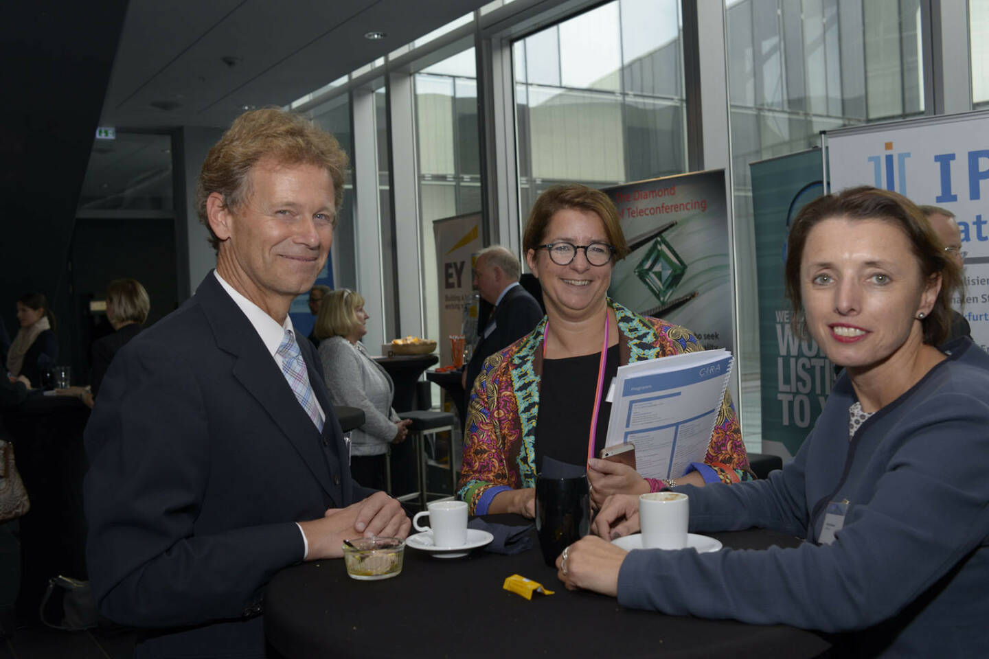
[[519, 209], [563, 182], [686, 171], [677, 0], [616, 0], [515, 41]]

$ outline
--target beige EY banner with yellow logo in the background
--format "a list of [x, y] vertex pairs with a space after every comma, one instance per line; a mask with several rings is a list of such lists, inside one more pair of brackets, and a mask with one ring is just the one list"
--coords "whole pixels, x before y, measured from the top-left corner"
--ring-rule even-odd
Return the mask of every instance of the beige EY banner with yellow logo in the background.
[[481, 213], [437, 219], [433, 221], [433, 237], [439, 268], [439, 336], [435, 339], [440, 366], [449, 366], [453, 364], [450, 335], [461, 333], [464, 303], [473, 291], [471, 254], [482, 247]]

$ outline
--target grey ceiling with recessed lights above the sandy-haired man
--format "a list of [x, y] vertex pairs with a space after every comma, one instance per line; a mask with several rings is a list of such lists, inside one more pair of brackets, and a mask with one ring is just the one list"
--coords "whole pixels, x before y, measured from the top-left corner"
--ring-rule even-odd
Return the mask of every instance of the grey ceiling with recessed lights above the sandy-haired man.
[[225, 127], [244, 106], [287, 105], [487, 1], [131, 0], [100, 124]]

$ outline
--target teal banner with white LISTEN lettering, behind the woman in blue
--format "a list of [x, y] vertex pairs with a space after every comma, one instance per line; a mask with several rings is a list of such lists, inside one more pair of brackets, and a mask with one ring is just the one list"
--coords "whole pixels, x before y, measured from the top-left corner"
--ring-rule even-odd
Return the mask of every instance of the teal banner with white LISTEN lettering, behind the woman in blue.
[[831, 363], [817, 343], [793, 332], [783, 279], [790, 224], [803, 206], [824, 194], [821, 151], [754, 162], [750, 171], [759, 280], [763, 453], [788, 460], [821, 414], [834, 381]]

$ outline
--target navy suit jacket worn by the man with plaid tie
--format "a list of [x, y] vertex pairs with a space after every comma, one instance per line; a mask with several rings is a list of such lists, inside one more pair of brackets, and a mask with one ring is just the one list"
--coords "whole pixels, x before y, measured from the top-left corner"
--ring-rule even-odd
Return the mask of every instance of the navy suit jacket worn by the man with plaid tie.
[[303, 559], [295, 522], [373, 492], [299, 346], [321, 434], [212, 273], [111, 364], [85, 431], [93, 593], [122, 624], [186, 627], [138, 656], [263, 656], [264, 586]]

